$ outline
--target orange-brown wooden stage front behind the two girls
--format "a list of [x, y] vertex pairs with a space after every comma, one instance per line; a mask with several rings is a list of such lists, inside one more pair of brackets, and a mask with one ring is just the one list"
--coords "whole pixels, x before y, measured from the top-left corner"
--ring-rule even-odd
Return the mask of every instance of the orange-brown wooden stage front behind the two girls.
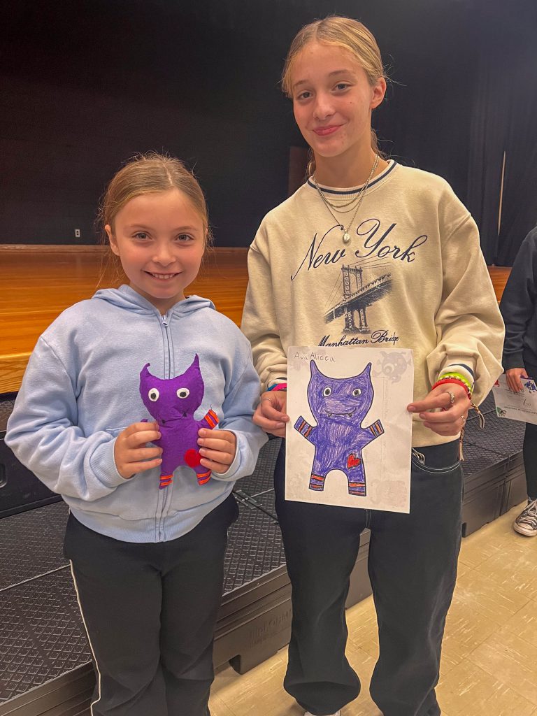
[[[37, 339], [64, 309], [125, 280], [108, 253], [102, 244], [0, 244], [0, 393], [19, 390]], [[211, 248], [188, 287], [237, 325], [248, 285], [247, 255], [242, 246]], [[510, 271], [489, 266], [498, 301]]]

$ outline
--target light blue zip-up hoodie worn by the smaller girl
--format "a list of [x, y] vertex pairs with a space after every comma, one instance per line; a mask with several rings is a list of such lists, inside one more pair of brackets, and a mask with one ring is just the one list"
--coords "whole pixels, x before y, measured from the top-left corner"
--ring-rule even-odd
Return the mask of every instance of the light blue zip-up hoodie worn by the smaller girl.
[[[237, 437], [226, 473], [198, 485], [188, 467], [158, 489], [159, 470], [130, 480], [117, 472], [117, 435], [147, 413], [140, 370], [175, 377], [200, 359], [205, 395], [195, 418], [212, 408], [219, 428]], [[75, 518], [126, 542], [162, 542], [193, 529], [256, 465], [266, 435], [251, 416], [259, 379], [250, 344], [211, 301], [190, 296], [160, 316], [129, 286], [97, 291], [64, 311], [42, 334], [9, 418], [6, 444]]]

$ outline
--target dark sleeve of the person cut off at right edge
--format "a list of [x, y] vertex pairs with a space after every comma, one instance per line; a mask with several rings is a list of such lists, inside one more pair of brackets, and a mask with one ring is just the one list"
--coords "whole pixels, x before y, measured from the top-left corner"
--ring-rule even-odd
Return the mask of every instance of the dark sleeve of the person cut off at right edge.
[[503, 289], [500, 311], [505, 321], [503, 367], [523, 368], [524, 337], [536, 303], [537, 229], [524, 239]]

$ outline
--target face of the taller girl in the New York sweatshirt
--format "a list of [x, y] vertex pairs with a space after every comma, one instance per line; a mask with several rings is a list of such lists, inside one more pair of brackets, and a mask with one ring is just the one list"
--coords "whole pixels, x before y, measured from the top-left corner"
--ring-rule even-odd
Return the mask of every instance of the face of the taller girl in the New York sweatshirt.
[[382, 102], [386, 82], [369, 84], [347, 49], [316, 41], [306, 44], [291, 69], [294, 116], [316, 163], [370, 151], [371, 112]]

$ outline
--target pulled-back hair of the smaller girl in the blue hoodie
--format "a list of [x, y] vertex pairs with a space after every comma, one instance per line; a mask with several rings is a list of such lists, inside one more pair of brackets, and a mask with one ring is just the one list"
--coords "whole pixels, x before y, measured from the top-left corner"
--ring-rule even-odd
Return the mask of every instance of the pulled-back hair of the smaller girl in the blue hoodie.
[[98, 220], [102, 227], [114, 229], [117, 213], [127, 202], [141, 194], [178, 189], [193, 206], [203, 223], [205, 243], [212, 243], [205, 196], [198, 180], [179, 159], [150, 152], [137, 155], [112, 178], [101, 199]]

